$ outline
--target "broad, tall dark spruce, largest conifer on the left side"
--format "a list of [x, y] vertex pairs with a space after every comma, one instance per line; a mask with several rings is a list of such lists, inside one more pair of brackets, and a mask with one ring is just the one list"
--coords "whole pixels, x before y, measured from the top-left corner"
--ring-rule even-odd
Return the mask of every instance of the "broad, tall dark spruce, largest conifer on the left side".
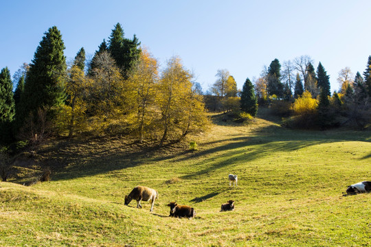
[[49, 115], [52, 108], [63, 104], [67, 68], [64, 49], [65, 44], [60, 31], [56, 26], [50, 27], [37, 47], [26, 74], [25, 89], [20, 103], [21, 122], [30, 113], [36, 117], [39, 109], [47, 110]]

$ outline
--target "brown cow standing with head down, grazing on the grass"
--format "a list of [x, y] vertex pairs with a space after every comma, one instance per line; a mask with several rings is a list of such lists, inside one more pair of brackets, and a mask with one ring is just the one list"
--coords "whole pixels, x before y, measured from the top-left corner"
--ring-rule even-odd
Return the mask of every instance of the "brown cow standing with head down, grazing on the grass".
[[125, 196], [125, 206], [127, 206], [131, 200], [134, 199], [137, 200], [137, 208], [142, 209], [142, 205], [140, 204], [141, 200], [144, 200], [145, 202], [152, 200], [152, 204], [150, 206], [150, 212], [152, 212], [153, 204], [155, 204], [156, 198], [159, 198], [159, 193], [157, 193], [155, 189], [138, 185], [128, 194], [128, 196]]

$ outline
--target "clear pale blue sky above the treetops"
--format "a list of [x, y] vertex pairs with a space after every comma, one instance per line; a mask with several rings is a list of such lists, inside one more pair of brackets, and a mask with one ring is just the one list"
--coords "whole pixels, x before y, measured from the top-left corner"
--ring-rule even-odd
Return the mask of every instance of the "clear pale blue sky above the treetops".
[[44, 32], [56, 25], [71, 60], [81, 47], [93, 56], [116, 23], [165, 64], [179, 56], [206, 91], [217, 69], [241, 89], [264, 65], [308, 55], [322, 62], [331, 91], [338, 73], [363, 73], [371, 55], [370, 0], [1, 1], [0, 69], [30, 63]]

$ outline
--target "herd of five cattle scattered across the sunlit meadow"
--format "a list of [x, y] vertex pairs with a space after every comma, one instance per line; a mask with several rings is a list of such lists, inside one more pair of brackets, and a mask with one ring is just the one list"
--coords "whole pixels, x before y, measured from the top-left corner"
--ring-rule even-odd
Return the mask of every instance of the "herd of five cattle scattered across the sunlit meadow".
[[[237, 186], [237, 175], [229, 174], [229, 186], [234, 183]], [[348, 195], [355, 195], [357, 193], [369, 193], [371, 192], [371, 181], [363, 181], [356, 183], [354, 185], [349, 185], [346, 189]], [[151, 200], [150, 212], [153, 211], [153, 205], [155, 200], [159, 198], [159, 193], [155, 189], [150, 189], [144, 186], [135, 187], [128, 196], [125, 196], [125, 205], [127, 206], [131, 200], [137, 201], [137, 208], [142, 209], [140, 202], [142, 200], [148, 202]], [[196, 215], [194, 208], [186, 205], [178, 205], [177, 202], [169, 202], [168, 207], [170, 207], [171, 217], [188, 217], [192, 218]], [[234, 200], [229, 200], [227, 203], [221, 205], [221, 211], [233, 211], [234, 210]]]

